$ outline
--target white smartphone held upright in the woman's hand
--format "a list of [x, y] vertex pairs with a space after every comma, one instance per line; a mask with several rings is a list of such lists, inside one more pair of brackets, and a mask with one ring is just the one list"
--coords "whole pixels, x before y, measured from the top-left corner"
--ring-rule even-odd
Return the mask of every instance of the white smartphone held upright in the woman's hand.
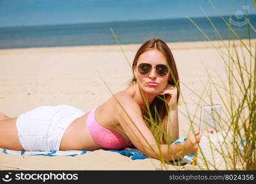
[[212, 128], [216, 132], [220, 131], [220, 115], [222, 107], [220, 104], [205, 105], [201, 107], [200, 132]]

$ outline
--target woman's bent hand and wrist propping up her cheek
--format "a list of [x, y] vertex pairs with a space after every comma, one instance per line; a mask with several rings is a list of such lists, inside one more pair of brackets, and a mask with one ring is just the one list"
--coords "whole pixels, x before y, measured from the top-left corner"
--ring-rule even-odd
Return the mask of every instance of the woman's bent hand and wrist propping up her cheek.
[[164, 95], [168, 94], [166, 98], [166, 102], [169, 107], [171, 107], [171, 110], [176, 110], [177, 109], [177, 94], [178, 90], [176, 86], [174, 85], [167, 85], [166, 88], [161, 91], [161, 93], [158, 93], [158, 95]]

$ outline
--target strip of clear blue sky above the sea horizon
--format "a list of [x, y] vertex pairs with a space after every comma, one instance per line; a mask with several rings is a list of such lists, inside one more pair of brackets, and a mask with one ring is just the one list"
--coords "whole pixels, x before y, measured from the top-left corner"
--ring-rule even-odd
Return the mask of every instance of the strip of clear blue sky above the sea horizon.
[[[212, 0], [223, 15], [230, 0]], [[233, 14], [245, 10], [246, 0], [233, 2]], [[56, 25], [104, 21], [152, 20], [217, 15], [208, 0], [0, 0], [0, 26]], [[250, 14], [256, 13], [247, 0]]]

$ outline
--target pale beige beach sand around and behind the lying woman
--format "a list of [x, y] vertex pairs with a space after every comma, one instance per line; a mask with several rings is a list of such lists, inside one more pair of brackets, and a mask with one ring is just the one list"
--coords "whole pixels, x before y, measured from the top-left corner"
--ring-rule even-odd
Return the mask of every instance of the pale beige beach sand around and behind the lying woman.
[[[251, 41], [252, 45], [255, 45], [255, 40]], [[248, 44], [247, 40], [244, 42]], [[224, 43], [228, 44], [227, 41]], [[239, 42], [236, 44], [239, 45]], [[222, 104], [215, 91], [209, 93], [213, 87], [210, 85], [208, 72], [214, 83], [227, 84], [225, 63], [218, 53], [218, 51], [225, 53], [226, 49], [222, 42], [217, 41], [180, 42], [168, 43], [168, 45], [176, 59], [181, 82], [179, 135], [186, 137], [191, 126], [198, 128], [201, 105], [211, 104], [209, 94], [212, 95], [213, 104]], [[132, 79], [129, 64], [133, 62], [139, 46], [139, 44], [122, 45], [126, 57], [118, 45], [2, 49], [0, 50], [0, 112], [9, 117], [17, 117], [20, 113], [41, 105], [58, 104], [74, 105], [88, 112], [109, 99], [112, 93], [127, 87]], [[223, 57], [227, 58], [225, 55]], [[248, 57], [245, 56], [246, 59]], [[195, 122], [193, 125], [192, 120]], [[6, 155], [0, 150], [2, 170], [157, 170], [159, 168], [161, 169], [161, 163], [157, 159], [134, 161], [118, 153], [104, 150], [74, 157], [16, 156]], [[169, 166], [168, 169], [196, 169], [196, 167]]]

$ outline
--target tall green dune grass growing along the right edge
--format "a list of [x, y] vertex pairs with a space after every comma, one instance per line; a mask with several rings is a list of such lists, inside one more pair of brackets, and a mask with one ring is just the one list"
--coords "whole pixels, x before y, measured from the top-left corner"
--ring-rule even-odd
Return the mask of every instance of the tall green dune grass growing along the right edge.
[[[227, 114], [225, 114], [225, 119], [221, 117], [223, 129], [222, 136], [228, 137], [227, 132], [232, 132], [232, 141], [228, 142], [227, 139], [224, 139], [222, 145], [219, 145], [218, 150], [215, 151], [219, 151], [219, 154], [222, 155], [227, 169], [255, 170], [256, 50], [255, 45], [252, 45], [253, 40], [250, 39], [251, 31], [256, 33], [255, 28], [249, 23], [249, 21], [247, 21], [247, 25], [245, 26], [247, 26], [249, 44], [246, 44], [244, 40], [241, 39], [239, 34], [236, 33], [233, 25], [225, 20], [223, 15], [219, 12], [219, 10], [216, 9], [211, 1], [209, 1], [209, 3], [216, 10], [216, 12], [219, 13], [222, 20], [225, 21], [230, 33], [230, 39], [228, 40], [227, 45], [225, 44], [226, 42], [223, 41], [223, 38], [215, 27], [214, 23], [212, 23], [206, 12], [201, 8], [204, 15], [206, 15], [211, 23], [212, 28], [214, 28], [219, 40], [222, 41], [223, 48], [225, 48], [224, 50], [221, 50], [212, 44], [212, 47], [217, 50], [223, 59], [223, 63], [225, 63], [227, 81], [222, 80], [222, 85], [218, 85], [214, 82], [214, 79], [211, 78], [209, 73], [208, 75], [209, 79], [211, 79], [212, 85], [215, 88], [215, 91], [217, 91], [217, 94], [219, 94], [219, 97], [222, 100], [222, 105], [225, 108], [225, 112], [227, 112]], [[254, 3], [256, 6], [256, 1], [254, 1]], [[247, 13], [246, 18], [248, 18]], [[191, 18], [188, 19], [196, 26], [196, 28], [198, 28], [198, 30], [204, 35], [204, 37], [206, 37], [207, 40], [211, 41], [204, 31], [200, 29], [200, 27], [198, 27], [198, 25], [196, 25]], [[239, 44], [235, 44], [235, 41], [232, 39], [238, 40]], [[221, 91], [225, 92], [225, 98]], [[212, 97], [209, 96], [209, 98], [211, 99]], [[224, 150], [227, 150], [228, 147], [231, 147], [232, 152], [227, 154]], [[203, 152], [203, 150], [200, 151]], [[204, 158], [204, 164], [207, 165], [208, 163], [208, 159]], [[209, 167], [206, 167], [206, 169], [209, 169]]]

